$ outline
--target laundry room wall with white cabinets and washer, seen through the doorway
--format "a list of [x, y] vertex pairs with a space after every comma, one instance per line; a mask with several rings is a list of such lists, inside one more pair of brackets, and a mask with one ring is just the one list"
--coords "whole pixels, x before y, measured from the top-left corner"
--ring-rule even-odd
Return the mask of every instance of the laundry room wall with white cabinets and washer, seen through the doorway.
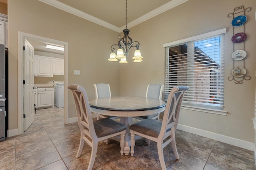
[[35, 109], [63, 108], [64, 54], [35, 50], [33, 58]]

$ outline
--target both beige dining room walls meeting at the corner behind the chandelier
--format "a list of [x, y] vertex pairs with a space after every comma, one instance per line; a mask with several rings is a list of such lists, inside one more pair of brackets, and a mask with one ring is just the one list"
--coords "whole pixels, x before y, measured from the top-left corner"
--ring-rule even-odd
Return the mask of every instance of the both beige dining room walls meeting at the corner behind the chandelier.
[[[248, 54], [245, 67], [251, 80], [235, 84], [234, 81], [227, 80], [233, 68], [231, 58], [233, 44], [230, 41], [233, 27], [230, 24], [232, 19], [227, 15], [241, 5], [245, 8], [252, 7], [252, 11], [246, 13], [248, 21], [245, 25], [248, 35], [245, 42], [245, 50]], [[253, 142], [252, 118], [254, 117], [256, 70], [255, 8], [255, 0], [189, 0], [130, 28], [132, 39], [141, 44], [140, 50], [144, 61], [133, 63], [130, 57], [127, 59], [127, 64], [119, 65], [106, 60], [110, 53], [110, 45], [118, 40], [116, 38], [118, 33], [39, 1], [8, 0], [9, 88], [12, 89], [9, 94], [9, 102], [12, 104], [9, 108], [9, 120], [11, 120], [9, 129], [18, 127], [17, 31], [68, 42], [69, 84], [81, 84], [86, 88], [89, 98], [94, 98], [92, 84], [98, 82], [109, 83], [113, 96], [118, 94], [144, 96], [147, 84], [164, 83], [164, 43], [226, 27], [224, 105], [228, 115], [182, 110], [179, 123]], [[94, 55], [94, 51], [98, 52], [97, 55]], [[74, 76], [73, 70], [81, 70], [81, 76]], [[69, 117], [72, 117], [74, 105], [70, 95]]]

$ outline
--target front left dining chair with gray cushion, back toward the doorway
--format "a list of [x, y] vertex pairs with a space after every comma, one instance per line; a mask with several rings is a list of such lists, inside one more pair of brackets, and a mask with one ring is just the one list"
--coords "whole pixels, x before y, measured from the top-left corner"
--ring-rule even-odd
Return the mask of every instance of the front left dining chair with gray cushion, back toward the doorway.
[[81, 132], [80, 144], [76, 158], [80, 157], [85, 141], [90, 147], [92, 147], [90, 162], [87, 168], [87, 170], [91, 170], [96, 158], [98, 141], [118, 135], [120, 135], [120, 153], [123, 155], [126, 125], [109, 118], [103, 118], [93, 122], [90, 104], [84, 88], [77, 84], [71, 84], [68, 85], [68, 89], [72, 91], [74, 96], [76, 115]]

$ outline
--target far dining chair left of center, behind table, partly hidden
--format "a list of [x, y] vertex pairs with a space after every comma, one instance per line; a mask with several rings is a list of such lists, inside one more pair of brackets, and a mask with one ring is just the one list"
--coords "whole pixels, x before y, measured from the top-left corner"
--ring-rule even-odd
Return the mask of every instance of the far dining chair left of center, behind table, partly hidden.
[[[111, 97], [111, 91], [110, 91], [110, 86], [109, 84], [105, 83], [98, 83], [98, 84], [93, 84], [94, 91], [95, 91], [95, 98], [106, 98], [106, 97]], [[116, 116], [105, 116], [105, 115], [100, 115], [97, 114], [97, 120], [102, 118], [110, 118], [110, 119], [118, 119], [119, 117]]]

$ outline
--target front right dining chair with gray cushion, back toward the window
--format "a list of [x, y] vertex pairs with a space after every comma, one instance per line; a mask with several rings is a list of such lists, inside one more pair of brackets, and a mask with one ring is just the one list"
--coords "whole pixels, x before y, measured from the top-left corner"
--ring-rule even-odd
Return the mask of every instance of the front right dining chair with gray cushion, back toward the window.
[[[166, 109], [164, 111], [163, 121], [155, 119], [145, 119], [130, 126], [131, 133], [131, 155], [134, 155], [135, 135], [150, 139], [157, 143], [158, 156], [162, 170], [166, 170], [164, 162], [163, 149], [169, 143], [172, 143], [174, 155], [177, 160], [180, 159], [176, 147], [175, 131], [178, 124], [180, 107], [184, 92], [188, 90], [188, 86], [176, 86], [172, 88], [168, 100], [166, 102]], [[166, 140], [164, 143], [163, 141]]]

